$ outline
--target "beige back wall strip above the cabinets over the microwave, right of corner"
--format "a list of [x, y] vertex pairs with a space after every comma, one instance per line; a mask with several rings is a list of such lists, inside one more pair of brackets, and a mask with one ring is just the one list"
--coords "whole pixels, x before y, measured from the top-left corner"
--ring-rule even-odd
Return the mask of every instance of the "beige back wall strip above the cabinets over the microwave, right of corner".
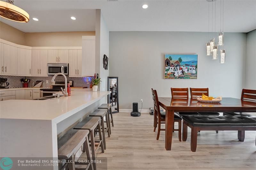
[[31, 47], [82, 47], [82, 36], [86, 35], [95, 35], [95, 32], [25, 33], [25, 44]]

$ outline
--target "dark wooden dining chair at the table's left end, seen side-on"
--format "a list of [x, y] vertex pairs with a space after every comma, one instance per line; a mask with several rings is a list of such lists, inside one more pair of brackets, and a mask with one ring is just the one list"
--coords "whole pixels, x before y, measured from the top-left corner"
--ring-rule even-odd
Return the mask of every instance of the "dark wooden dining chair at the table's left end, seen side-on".
[[[151, 89], [152, 95], [153, 95], [153, 101], [154, 101], [154, 132], [156, 131], [156, 127], [158, 124], [158, 130], [157, 130], [157, 136], [156, 140], [159, 139], [160, 136], [160, 131], [165, 129], [161, 129], [161, 124], [165, 123], [165, 112], [160, 112], [160, 106], [159, 106], [159, 101], [158, 101], [158, 96], [156, 90]], [[178, 131], [179, 132], [179, 141], [181, 142], [181, 117], [174, 113], [174, 122], [178, 122], [178, 129], [174, 129], [173, 126], [173, 131]]]

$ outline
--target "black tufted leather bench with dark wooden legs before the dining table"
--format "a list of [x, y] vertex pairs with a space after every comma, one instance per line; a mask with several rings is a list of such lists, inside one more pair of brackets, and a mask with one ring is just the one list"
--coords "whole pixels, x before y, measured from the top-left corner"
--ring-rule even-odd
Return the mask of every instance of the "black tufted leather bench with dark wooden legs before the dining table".
[[256, 120], [245, 116], [182, 116], [182, 119], [182, 140], [187, 140], [190, 127], [192, 152], [196, 152], [198, 130], [237, 130], [237, 137], [241, 142], [244, 141], [245, 130], [256, 130]]

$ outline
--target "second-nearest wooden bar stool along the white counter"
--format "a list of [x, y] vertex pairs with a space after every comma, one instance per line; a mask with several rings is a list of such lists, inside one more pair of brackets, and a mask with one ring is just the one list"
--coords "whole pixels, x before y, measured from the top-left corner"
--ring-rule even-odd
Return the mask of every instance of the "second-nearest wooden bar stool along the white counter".
[[[102, 144], [102, 134], [99, 131], [100, 141], [95, 141], [94, 139], [94, 131], [96, 128], [100, 129], [100, 117], [86, 117], [82, 122], [78, 123], [74, 129], [80, 130], [89, 130], [90, 131], [90, 143], [91, 143], [91, 150], [92, 150], [92, 160], [93, 160], [93, 168], [97, 170], [96, 166], [96, 152], [101, 148], [101, 152], [104, 153], [104, 145]], [[89, 135], [88, 135], [89, 136]], [[84, 150], [83, 150], [84, 152]]]

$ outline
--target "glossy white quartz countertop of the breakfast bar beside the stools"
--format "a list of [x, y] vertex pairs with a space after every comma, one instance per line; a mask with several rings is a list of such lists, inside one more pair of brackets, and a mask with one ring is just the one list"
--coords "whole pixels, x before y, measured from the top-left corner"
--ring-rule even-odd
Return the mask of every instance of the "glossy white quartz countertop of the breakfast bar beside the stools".
[[52, 120], [58, 123], [108, 94], [109, 91], [72, 89], [71, 96], [54, 100], [5, 100], [0, 102], [0, 118]]

